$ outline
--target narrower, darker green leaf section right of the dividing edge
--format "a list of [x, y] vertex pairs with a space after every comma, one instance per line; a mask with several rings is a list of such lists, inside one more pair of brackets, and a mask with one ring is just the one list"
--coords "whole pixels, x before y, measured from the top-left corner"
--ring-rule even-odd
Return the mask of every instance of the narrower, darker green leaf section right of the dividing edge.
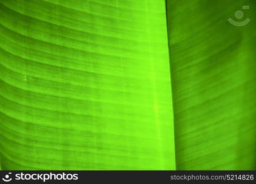
[[[178, 170], [256, 169], [255, 7], [167, 1]], [[229, 18], [251, 21], [238, 27]]]

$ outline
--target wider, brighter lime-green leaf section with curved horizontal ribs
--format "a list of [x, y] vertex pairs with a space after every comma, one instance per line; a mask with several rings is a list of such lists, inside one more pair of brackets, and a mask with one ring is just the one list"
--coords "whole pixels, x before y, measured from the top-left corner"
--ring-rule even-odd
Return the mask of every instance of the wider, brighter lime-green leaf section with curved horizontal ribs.
[[0, 2], [2, 169], [175, 169], [165, 1]]

